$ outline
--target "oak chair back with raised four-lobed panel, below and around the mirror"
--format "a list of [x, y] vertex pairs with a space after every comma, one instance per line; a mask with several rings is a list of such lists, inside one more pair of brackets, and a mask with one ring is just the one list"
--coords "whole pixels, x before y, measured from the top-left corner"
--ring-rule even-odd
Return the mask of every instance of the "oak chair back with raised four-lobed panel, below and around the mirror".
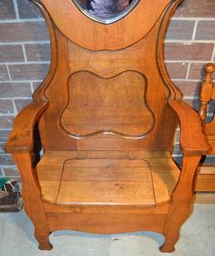
[[170, 149], [181, 99], [164, 64], [165, 31], [182, 0], [140, 0], [128, 15], [100, 24], [71, 0], [34, 0], [50, 31], [51, 66], [34, 100], [45, 149]]

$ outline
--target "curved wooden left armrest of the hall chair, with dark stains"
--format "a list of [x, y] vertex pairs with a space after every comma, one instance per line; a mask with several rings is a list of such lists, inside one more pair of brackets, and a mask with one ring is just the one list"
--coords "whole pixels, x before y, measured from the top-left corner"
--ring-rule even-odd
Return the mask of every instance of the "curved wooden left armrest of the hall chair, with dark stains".
[[39, 116], [48, 108], [47, 102], [32, 102], [20, 111], [13, 123], [13, 131], [8, 136], [6, 151], [31, 152], [34, 147], [34, 125]]

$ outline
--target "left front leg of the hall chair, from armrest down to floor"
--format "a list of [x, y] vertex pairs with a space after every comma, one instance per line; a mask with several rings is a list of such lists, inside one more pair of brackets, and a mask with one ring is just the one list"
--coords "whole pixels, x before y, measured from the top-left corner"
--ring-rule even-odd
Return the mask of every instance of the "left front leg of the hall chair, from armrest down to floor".
[[43, 202], [40, 200], [38, 179], [32, 168], [30, 153], [13, 154], [13, 159], [18, 165], [23, 181], [24, 210], [34, 224], [34, 235], [39, 242], [39, 248], [50, 250], [50, 230], [45, 216]]

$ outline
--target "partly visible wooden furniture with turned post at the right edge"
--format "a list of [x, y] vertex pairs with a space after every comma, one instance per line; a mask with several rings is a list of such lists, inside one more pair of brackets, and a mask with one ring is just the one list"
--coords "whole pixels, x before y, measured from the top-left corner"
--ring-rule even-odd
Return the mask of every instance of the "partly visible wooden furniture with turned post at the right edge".
[[[215, 72], [215, 64], [207, 63], [204, 66], [205, 77], [203, 77], [199, 95], [199, 115], [203, 124], [203, 132], [206, 135], [209, 151], [207, 155], [215, 155], [215, 117], [207, 121], [207, 109], [209, 104], [215, 100], [215, 83], [212, 74]], [[202, 164], [197, 173], [197, 192], [215, 192], [215, 165]]]

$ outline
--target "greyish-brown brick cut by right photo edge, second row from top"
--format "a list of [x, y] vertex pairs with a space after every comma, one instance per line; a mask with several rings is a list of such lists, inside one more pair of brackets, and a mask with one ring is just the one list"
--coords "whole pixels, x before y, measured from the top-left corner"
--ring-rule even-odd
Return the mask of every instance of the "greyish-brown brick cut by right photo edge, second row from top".
[[[214, 7], [215, 16], [215, 7]], [[215, 40], [215, 21], [201, 20], [197, 25], [196, 40]]]

